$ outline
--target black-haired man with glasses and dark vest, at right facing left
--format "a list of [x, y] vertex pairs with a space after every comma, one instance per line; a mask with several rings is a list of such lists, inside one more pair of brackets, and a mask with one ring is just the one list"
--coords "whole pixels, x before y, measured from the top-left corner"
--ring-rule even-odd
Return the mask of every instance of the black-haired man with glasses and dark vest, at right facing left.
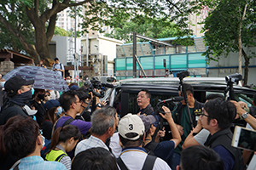
[[221, 98], [207, 101], [201, 114], [202, 127], [210, 135], [205, 145], [215, 150], [224, 161], [224, 169], [243, 169], [241, 150], [231, 146], [230, 126], [236, 117], [236, 106]]

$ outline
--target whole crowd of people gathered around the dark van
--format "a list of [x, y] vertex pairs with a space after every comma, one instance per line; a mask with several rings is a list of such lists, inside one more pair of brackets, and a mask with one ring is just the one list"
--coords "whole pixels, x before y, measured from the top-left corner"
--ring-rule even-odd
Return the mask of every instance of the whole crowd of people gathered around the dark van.
[[[61, 63], [54, 67], [62, 74]], [[66, 81], [72, 85], [70, 76]], [[61, 94], [34, 89], [33, 95], [32, 84], [20, 76], [4, 83], [1, 169], [242, 170], [253, 154], [231, 146], [230, 127], [242, 118], [256, 129], [255, 108], [221, 94], [207, 95], [202, 104], [194, 98], [193, 87], [183, 83], [187, 103], [181, 101], [175, 111], [162, 106], [156, 114], [149, 91], [142, 89], [137, 94], [139, 111], [119, 118], [86, 84], [73, 84]], [[160, 118], [169, 129], [160, 129]], [[172, 132], [171, 139], [164, 140], [166, 130]]]

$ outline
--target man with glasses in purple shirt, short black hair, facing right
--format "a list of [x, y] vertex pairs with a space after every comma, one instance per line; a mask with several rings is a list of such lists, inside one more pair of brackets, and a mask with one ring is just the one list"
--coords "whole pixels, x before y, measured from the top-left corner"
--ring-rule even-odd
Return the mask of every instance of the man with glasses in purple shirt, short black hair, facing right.
[[80, 132], [85, 136], [85, 134], [90, 130], [90, 122], [75, 119], [81, 109], [81, 101], [77, 93], [69, 90], [64, 94], [61, 94], [59, 102], [65, 111], [65, 115], [61, 116], [58, 122], [55, 123], [55, 129], [71, 124], [79, 127]]

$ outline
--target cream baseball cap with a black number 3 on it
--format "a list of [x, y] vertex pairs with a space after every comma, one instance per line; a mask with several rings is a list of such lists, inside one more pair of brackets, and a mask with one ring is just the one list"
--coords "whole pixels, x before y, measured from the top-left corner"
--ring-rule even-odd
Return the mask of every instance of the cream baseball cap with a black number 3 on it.
[[[143, 120], [137, 116], [128, 113], [126, 116], [121, 118], [119, 122], [119, 134], [125, 138], [130, 140], [137, 140], [141, 135], [145, 132], [145, 127], [143, 124]], [[127, 133], [137, 133], [135, 137], [128, 137]]]

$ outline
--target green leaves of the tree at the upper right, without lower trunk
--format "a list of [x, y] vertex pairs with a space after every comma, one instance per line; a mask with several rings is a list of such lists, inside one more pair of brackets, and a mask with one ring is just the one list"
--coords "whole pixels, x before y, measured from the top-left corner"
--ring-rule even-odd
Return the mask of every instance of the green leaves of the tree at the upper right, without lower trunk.
[[[212, 1], [216, 8], [209, 14], [205, 20], [203, 31], [205, 33], [205, 43], [207, 45], [207, 56], [213, 55], [218, 59], [220, 55], [225, 57], [230, 52], [238, 52], [238, 33], [239, 24], [242, 22], [241, 27], [241, 42], [244, 47], [248, 45], [255, 45], [253, 39], [255, 38], [255, 14], [253, 12], [253, 4], [251, 2], [247, 10], [245, 20], [241, 21], [241, 15], [245, 6], [243, 0], [224, 0]], [[206, 2], [209, 4], [211, 2]], [[253, 7], [255, 8], [255, 7]]]

